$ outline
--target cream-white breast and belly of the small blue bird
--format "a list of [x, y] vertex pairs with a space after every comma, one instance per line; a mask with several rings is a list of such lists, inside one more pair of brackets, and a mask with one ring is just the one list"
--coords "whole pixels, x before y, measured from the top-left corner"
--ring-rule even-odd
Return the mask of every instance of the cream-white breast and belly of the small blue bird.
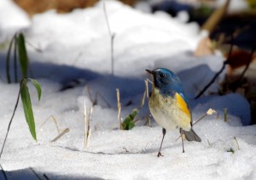
[[190, 117], [183, 113], [176, 104], [174, 98], [164, 98], [161, 95], [154, 94], [149, 98], [149, 110], [154, 120], [165, 129], [183, 128], [190, 130]]

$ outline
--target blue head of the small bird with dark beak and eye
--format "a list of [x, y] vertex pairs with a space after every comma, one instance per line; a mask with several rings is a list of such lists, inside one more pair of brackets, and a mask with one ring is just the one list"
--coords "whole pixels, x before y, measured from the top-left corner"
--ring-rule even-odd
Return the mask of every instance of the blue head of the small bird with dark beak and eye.
[[183, 93], [182, 82], [171, 70], [157, 68], [146, 71], [153, 76], [153, 87], [158, 88], [161, 93]]

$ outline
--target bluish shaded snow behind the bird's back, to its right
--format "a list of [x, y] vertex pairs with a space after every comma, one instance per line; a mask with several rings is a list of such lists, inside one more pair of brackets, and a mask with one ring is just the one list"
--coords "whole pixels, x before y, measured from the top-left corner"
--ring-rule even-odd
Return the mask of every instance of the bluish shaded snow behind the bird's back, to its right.
[[227, 109], [228, 115], [234, 115], [241, 118], [244, 126], [251, 124], [250, 104], [247, 99], [237, 93], [227, 95], [218, 95], [219, 77], [211, 87], [207, 89], [201, 98], [195, 100], [195, 96], [212, 80], [217, 72], [212, 71], [208, 65], [198, 65], [193, 68], [182, 70], [177, 73], [181, 78], [185, 92], [188, 94], [189, 103], [192, 109], [201, 111], [202, 115], [207, 113], [208, 109], [213, 109], [219, 115], [224, 115], [224, 109]]

